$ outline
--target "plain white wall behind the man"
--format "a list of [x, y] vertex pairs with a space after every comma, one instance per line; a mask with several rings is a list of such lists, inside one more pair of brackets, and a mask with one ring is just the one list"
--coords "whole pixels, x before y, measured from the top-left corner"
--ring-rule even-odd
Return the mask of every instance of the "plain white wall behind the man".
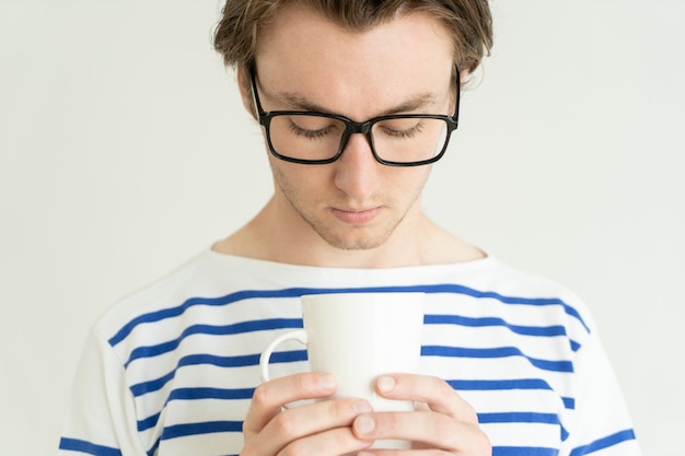
[[[242, 225], [265, 152], [220, 0], [0, 0], [0, 454], [50, 454], [90, 325]], [[497, 0], [425, 208], [581, 294], [646, 455], [685, 455], [685, 1]]]

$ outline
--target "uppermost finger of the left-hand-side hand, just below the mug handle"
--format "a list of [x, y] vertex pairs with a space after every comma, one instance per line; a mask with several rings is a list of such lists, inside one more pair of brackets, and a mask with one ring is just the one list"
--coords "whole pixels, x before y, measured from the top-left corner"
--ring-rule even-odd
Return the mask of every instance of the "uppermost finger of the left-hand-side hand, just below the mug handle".
[[286, 404], [327, 397], [335, 388], [335, 378], [324, 373], [294, 374], [266, 382], [255, 389], [243, 432], [256, 434]]

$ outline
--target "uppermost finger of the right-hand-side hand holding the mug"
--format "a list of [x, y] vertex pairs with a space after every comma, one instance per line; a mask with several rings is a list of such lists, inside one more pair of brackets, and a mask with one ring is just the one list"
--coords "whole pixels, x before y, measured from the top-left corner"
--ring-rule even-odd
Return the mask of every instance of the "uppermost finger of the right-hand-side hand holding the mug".
[[376, 379], [376, 391], [388, 399], [425, 402], [437, 412], [468, 423], [478, 423], [476, 410], [441, 378], [414, 375], [382, 375]]

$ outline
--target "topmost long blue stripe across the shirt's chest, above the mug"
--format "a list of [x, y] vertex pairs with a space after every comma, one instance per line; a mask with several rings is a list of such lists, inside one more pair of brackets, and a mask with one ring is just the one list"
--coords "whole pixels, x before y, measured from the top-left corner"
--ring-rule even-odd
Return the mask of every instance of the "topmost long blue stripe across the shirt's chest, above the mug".
[[503, 304], [512, 305], [534, 305], [547, 306], [559, 305], [564, 311], [578, 319], [581, 325], [590, 332], [590, 328], [583, 321], [582, 317], [576, 308], [566, 304], [558, 297], [519, 297], [506, 296], [489, 291], [478, 291], [467, 287], [457, 284], [436, 284], [436, 285], [413, 285], [413, 287], [370, 287], [370, 288], [349, 288], [349, 289], [312, 289], [312, 288], [291, 288], [283, 290], [244, 290], [219, 297], [190, 297], [176, 307], [164, 308], [156, 312], [139, 315], [138, 317], [126, 324], [109, 340], [111, 346], [121, 342], [137, 326], [160, 321], [182, 315], [188, 308], [196, 305], [222, 306], [235, 303], [237, 301], [251, 299], [275, 299], [275, 297], [299, 297], [303, 294], [322, 294], [322, 293], [388, 293], [388, 292], [421, 292], [421, 293], [455, 293], [464, 294], [476, 299], [492, 299]]

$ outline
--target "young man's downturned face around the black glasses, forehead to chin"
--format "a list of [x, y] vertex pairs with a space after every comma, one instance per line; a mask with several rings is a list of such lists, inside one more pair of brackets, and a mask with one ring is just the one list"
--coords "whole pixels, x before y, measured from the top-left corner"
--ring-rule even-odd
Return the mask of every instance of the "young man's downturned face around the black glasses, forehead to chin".
[[[415, 107], [395, 114], [454, 109], [452, 43], [442, 25], [425, 15], [360, 34], [309, 10], [285, 8], [260, 33], [256, 62], [266, 112], [316, 106], [364, 121], [405, 105]], [[332, 164], [294, 164], [270, 154], [269, 160], [280, 223], [293, 236], [370, 249], [391, 237], [403, 245], [418, 235], [430, 165], [382, 165], [362, 135], [353, 135]]]

